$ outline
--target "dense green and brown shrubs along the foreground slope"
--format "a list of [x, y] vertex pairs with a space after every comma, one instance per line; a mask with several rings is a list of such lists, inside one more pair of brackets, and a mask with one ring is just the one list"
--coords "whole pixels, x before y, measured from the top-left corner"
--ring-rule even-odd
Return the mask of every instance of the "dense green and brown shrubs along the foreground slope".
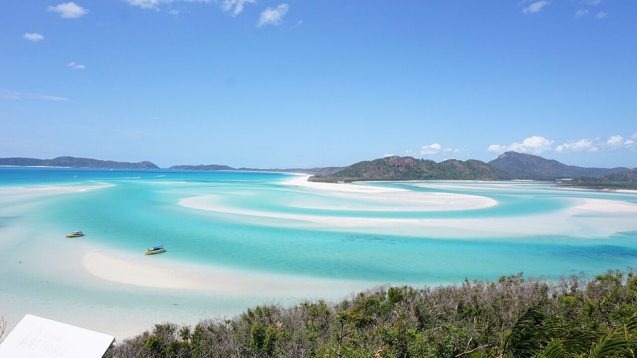
[[164, 323], [107, 357], [637, 357], [637, 276], [376, 287], [338, 303], [264, 305]]

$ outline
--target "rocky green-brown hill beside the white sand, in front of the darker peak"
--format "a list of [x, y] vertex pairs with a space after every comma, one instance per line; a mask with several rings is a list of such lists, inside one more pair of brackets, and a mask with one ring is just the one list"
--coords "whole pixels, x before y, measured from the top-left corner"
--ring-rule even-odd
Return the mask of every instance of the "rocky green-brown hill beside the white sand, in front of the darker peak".
[[385, 157], [362, 161], [329, 175], [315, 175], [312, 182], [353, 182], [355, 180], [497, 180], [512, 175], [485, 162], [448, 159], [440, 163], [413, 157]]

